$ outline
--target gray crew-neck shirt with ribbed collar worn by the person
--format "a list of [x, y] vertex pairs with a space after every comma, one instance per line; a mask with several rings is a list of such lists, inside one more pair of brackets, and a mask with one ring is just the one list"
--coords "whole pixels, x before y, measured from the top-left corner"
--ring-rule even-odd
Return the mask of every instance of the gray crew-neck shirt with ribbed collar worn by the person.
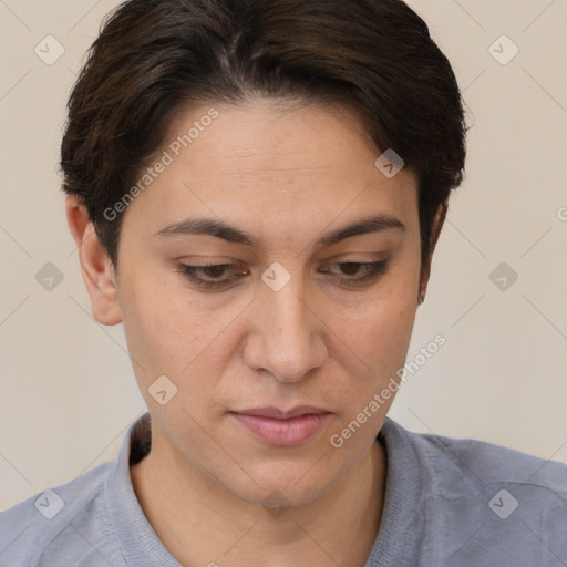
[[[115, 461], [0, 513], [0, 566], [179, 567], [130, 477], [150, 450], [148, 419], [128, 429]], [[377, 442], [385, 501], [364, 567], [567, 566], [567, 465], [390, 419]]]

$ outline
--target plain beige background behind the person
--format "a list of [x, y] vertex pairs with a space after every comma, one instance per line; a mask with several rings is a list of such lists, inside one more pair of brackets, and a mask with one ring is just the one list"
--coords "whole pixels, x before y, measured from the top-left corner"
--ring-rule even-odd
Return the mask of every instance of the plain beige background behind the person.
[[[90, 315], [56, 173], [69, 90], [115, 4], [0, 1], [0, 508], [113, 458], [144, 410], [122, 327]], [[409, 358], [437, 333], [447, 342], [390, 415], [567, 462], [567, 1], [411, 6], [474, 127]], [[64, 48], [52, 65], [34, 52], [48, 34]], [[488, 50], [503, 34], [519, 48], [506, 65]], [[495, 49], [512, 53], [506, 40]], [[63, 276], [51, 291], [35, 279], [47, 262]], [[501, 262], [518, 275], [506, 290], [489, 278]]]

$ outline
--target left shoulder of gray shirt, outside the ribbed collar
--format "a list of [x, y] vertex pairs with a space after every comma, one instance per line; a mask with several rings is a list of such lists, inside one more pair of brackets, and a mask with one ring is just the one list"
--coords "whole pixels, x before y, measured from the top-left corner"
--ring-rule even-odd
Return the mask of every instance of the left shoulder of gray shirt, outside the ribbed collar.
[[104, 486], [114, 465], [104, 463], [1, 512], [0, 566], [53, 565], [50, 557], [61, 549], [74, 565], [94, 565], [92, 556], [107, 547], [112, 530]]

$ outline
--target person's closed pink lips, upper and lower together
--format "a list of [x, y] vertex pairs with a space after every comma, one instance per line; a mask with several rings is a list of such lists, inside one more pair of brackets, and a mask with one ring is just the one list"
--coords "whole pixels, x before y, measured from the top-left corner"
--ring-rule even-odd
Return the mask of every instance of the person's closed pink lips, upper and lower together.
[[300, 405], [291, 410], [255, 408], [230, 412], [233, 419], [269, 445], [293, 446], [321, 430], [331, 415], [327, 410]]

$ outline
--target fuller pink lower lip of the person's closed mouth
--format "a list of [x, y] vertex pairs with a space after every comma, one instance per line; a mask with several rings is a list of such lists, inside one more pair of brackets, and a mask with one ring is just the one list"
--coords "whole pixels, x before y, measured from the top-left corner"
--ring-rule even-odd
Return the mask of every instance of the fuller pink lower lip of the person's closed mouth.
[[289, 420], [231, 413], [233, 417], [265, 443], [292, 446], [303, 443], [323, 426], [330, 413], [309, 413]]

